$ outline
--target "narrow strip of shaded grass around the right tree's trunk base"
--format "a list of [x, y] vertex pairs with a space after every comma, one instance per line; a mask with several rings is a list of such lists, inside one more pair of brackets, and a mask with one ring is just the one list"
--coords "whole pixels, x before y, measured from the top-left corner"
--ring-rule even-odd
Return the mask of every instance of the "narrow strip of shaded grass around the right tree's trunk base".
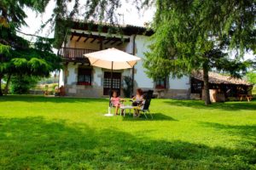
[[212, 105], [204, 105], [204, 102], [201, 100], [166, 100], [164, 101], [166, 104], [175, 105], [175, 106], [184, 106], [184, 107], [192, 107], [195, 109], [218, 109], [224, 111], [256, 111], [256, 102], [225, 102], [225, 103], [214, 103]]

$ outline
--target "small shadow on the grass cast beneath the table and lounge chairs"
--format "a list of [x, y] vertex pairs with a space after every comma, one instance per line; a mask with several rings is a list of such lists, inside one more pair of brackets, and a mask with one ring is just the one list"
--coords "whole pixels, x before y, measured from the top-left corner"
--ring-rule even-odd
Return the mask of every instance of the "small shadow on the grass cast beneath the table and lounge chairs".
[[133, 114], [131, 115], [128, 113], [124, 116], [124, 121], [177, 121], [176, 119], [172, 118], [172, 116], [166, 116], [162, 113], [151, 113], [153, 116], [153, 119], [151, 119], [151, 116], [147, 114], [148, 119], [142, 114], [138, 118], [134, 118]]

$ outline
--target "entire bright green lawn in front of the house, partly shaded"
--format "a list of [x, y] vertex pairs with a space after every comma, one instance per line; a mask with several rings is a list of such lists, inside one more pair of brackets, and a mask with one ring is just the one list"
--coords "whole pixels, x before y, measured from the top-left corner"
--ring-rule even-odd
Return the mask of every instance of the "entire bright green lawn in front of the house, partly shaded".
[[0, 98], [0, 169], [256, 169], [256, 101], [153, 99], [153, 121], [107, 105]]

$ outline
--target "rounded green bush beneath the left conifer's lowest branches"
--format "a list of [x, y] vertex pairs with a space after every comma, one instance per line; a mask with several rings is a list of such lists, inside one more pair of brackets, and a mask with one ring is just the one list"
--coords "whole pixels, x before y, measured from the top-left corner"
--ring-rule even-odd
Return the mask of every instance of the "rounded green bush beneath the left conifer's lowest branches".
[[36, 86], [38, 77], [16, 76], [11, 78], [11, 94], [29, 94], [29, 90]]

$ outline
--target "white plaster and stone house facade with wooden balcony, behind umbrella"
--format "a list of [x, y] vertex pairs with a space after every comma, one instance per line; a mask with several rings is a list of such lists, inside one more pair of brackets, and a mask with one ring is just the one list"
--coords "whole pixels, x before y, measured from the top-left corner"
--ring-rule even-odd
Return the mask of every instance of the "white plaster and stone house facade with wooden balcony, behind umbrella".
[[[118, 48], [129, 54], [141, 58], [133, 69], [113, 72], [113, 89], [124, 95], [124, 78], [133, 80], [133, 93], [137, 88], [143, 90], [153, 89], [159, 98], [189, 99], [189, 77], [172, 78], [154, 81], [149, 78], [143, 68], [144, 53], [148, 51], [148, 38], [153, 31], [144, 27], [118, 26], [119, 33], [109, 34], [109, 28], [73, 22], [72, 29], [63, 42], [59, 54], [63, 59], [63, 70], [60, 72], [60, 86], [64, 86], [67, 96], [76, 97], [107, 97], [110, 88], [110, 71], [90, 65], [84, 54], [96, 52], [107, 48]], [[117, 28], [117, 27], [116, 27]], [[119, 32], [117, 31], [117, 32]]]

